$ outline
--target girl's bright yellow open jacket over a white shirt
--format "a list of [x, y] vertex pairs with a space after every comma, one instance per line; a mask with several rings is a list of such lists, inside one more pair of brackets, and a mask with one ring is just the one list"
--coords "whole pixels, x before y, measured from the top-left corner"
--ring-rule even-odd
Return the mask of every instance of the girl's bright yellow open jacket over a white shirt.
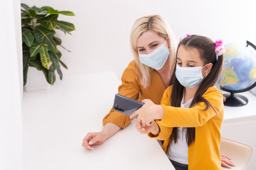
[[164, 140], [163, 149], [169, 145], [173, 127], [196, 128], [195, 141], [188, 147], [188, 169], [192, 170], [214, 170], [222, 169], [220, 163], [220, 128], [223, 122], [223, 95], [215, 86], [208, 88], [203, 94], [218, 114], [206, 104], [201, 102], [192, 108], [176, 108], [171, 106], [171, 89], [169, 86], [164, 91], [161, 106], [164, 108], [164, 117], [156, 120], [160, 132], [158, 136], [149, 133], [149, 137]]

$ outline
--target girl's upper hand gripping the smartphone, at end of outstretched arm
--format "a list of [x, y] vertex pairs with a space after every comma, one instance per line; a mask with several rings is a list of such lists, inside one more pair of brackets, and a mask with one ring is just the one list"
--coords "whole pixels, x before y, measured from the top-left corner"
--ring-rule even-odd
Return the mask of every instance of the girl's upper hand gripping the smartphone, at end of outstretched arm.
[[156, 105], [153, 101], [149, 99], [144, 99], [142, 103], [145, 103], [142, 108], [139, 108], [137, 111], [130, 115], [130, 118], [134, 118], [135, 115], [138, 115], [137, 121], [142, 123], [142, 125], [148, 125], [155, 120], [161, 119], [164, 115], [164, 108], [159, 105]]

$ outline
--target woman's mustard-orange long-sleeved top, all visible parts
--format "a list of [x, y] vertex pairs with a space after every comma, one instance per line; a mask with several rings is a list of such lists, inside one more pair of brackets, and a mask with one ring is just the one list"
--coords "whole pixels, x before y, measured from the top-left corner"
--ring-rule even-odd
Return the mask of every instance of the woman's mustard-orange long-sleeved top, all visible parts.
[[[161, 98], [164, 94], [166, 87], [161, 81], [159, 73], [155, 69], [151, 70], [150, 73], [151, 84], [148, 88], [144, 89], [140, 83], [141, 78], [139, 77], [139, 68], [136, 62], [133, 60], [129, 63], [128, 67], [124, 70], [122, 74], [122, 84], [118, 87], [118, 94], [127, 96], [137, 101], [142, 101], [144, 98], [149, 98], [156, 104], [161, 103]], [[110, 113], [105, 115], [103, 118], [103, 125], [106, 123], [114, 123], [122, 128], [127, 127], [132, 119], [128, 115], [124, 115], [113, 108]]]

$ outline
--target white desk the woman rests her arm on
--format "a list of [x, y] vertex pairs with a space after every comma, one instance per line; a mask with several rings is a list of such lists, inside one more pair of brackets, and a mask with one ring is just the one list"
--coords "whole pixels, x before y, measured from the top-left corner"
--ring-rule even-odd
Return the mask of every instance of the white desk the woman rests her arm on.
[[46, 91], [23, 94], [24, 170], [174, 169], [156, 140], [134, 121], [87, 151], [87, 132], [102, 130], [120, 81], [114, 72], [64, 77]]

